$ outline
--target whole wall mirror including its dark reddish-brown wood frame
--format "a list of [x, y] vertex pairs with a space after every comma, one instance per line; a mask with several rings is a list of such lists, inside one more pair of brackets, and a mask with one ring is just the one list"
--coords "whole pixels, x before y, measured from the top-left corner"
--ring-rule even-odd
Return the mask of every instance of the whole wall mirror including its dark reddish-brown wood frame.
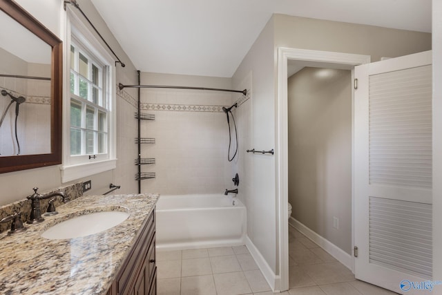
[[0, 173], [61, 164], [61, 40], [0, 0]]

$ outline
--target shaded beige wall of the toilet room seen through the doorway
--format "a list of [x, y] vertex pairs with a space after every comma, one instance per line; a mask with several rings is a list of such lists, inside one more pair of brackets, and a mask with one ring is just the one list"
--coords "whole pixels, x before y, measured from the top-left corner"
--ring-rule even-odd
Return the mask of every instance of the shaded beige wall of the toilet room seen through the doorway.
[[[288, 81], [291, 216], [351, 254], [352, 73], [303, 68]], [[333, 218], [339, 220], [338, 229]]]

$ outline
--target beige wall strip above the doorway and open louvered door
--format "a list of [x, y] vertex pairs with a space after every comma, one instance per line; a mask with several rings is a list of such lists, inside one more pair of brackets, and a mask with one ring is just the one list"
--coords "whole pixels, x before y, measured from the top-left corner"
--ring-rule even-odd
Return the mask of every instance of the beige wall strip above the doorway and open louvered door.
[[431, 49], [431, 34], [356, 23], [274, 15], [275, 47], [399, 57]]

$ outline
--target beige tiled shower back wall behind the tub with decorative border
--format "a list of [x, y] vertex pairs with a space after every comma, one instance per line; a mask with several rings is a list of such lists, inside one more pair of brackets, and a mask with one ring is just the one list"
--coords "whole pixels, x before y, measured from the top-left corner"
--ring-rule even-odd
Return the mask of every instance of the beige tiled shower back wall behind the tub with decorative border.
[[[144, 74], [142, 84], [231, 88], [228, 78]], [[155, 115], [141, 122], [141, 137], [155, 138], [155, 144], [142, 144], [142, 158], [155, 158], [155, 164], [142, 166], [143, 172], [155, 172], [155, 178], [142, 180], [142, 192], [220, 194], [233, 188], [222, 111], [232, 99], [220, 91], [142, 89], [142, 113]]]

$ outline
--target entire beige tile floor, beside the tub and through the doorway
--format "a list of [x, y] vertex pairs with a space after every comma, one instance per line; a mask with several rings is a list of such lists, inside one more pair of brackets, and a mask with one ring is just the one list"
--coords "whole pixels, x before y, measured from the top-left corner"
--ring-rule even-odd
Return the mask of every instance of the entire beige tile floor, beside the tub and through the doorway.
[[[289, 291], [281, 295], [390, 295], [356, 280], [314, 242], [289, 227]], [[245, 246], [157, 250], [158, 295], [271, 295]]]

